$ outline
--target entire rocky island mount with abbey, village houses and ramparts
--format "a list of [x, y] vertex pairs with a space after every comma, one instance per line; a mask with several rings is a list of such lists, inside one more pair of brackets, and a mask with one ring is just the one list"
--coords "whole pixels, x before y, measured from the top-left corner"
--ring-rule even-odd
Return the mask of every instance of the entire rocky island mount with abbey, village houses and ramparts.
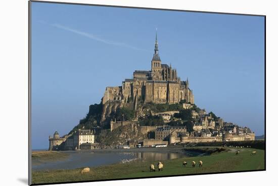
[[225, 122], [194, 104], [189, 79], [181, 80], [177, 69], [162, 63], [157, 34], [150, 65], [151, 70], [135, 70], [121, 86], [108, 86], [101, 103], [90, 105], [72, 131], [62, 137], [56, 131], [49, 137], [49, 150], [255, 140], [248, 127]]

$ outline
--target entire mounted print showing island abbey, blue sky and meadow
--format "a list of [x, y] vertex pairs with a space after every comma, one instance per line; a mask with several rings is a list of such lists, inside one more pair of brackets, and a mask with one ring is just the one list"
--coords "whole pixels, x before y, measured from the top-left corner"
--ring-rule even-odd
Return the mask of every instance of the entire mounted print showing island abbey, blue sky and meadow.
[[30, 184], [265, 170], [263, 17], [30, 4]]

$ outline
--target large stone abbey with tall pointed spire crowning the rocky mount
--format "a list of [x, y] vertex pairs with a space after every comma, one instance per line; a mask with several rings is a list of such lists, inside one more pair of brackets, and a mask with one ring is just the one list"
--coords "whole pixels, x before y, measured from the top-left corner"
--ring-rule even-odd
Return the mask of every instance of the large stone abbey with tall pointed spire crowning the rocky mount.
[[157, 34], [155, 53], [151, 61], [151, 71], [133, 72], [133, 79], [125, 79], [122, 86], [107, 87], [103, 104], [108, 101], [120, 100], [122, 103], [143, 100], [145, 103], [179, 103], [180, 100], [193, 104], [193, 91], [189, 81], [181, 81], [176, 69], [171, 65], [162, 64], [158, 54]]

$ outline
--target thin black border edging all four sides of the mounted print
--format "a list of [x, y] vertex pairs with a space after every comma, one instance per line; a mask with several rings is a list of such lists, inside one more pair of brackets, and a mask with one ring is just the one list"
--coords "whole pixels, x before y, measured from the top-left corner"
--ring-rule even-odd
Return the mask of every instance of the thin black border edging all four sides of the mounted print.
[[[31, 148], [31, 144], [32, 144], [31, 143], [31, 3], [32, 2], [50, 3], [50, 4], [96, 6], [96, 7], [113, 7], [113, 8], [128, 8], [128, 9], [145, 9], [145, 10], [164, 10], [164, 11], [175, 11], [175, 12], [177, 11], [177, 12], [193, 12], [193, 13], [226, 14], [226, 15], [264, 17], [264, 169], [32, 184], [32, 164], [31, 164], [32, 163], [32, 161], [31, 161], [31, 154], [32, 154], [32, 148]], [[28, 144], [29, 144], [29, 149], [28, 149], [28, 176], [29, 176], [28, 177], [28, 184], [29, 185], [82, 183], [82, 182], [97, 182], [97, 181], [112, 181], [112, 180], [127, 180], [127, 179], [145, 179], [145, 178], [158, 178], [158, 177], [176, 177], [176, 176], [190, 176], [190, 175], [208, 175], [208, 174], [224, 174], [224, 173], [266, 171], [266, 15], [237, 14], [237, 13], [223, 13], [223, 12], [206, 12], [206, 11], [192, 11], [192, 10], [174, 10], [174, 9], [147, 8], [147, 7], [128, 7], [128, 6], [114, 6], [114, 5], [97, 5], [97, 4], [82, 4], [82, 3], [66, 3], [66, 2], [50, 2], [50, 1], [29, 0], [29, 2], [28, 2], [28, 102], [29, 102], [29, 107], [28, 107], [28, 133], [29, 133], [28, 134]]]

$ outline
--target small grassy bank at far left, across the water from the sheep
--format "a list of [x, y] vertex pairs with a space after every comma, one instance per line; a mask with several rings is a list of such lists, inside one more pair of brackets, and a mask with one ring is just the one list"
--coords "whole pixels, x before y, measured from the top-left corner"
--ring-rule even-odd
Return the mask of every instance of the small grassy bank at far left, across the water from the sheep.
[[32, 152], [32, 163], [40, 164], [50, 161], [65, 160], [69, 157], [69, 154], [57, 151], [33, 151]]

